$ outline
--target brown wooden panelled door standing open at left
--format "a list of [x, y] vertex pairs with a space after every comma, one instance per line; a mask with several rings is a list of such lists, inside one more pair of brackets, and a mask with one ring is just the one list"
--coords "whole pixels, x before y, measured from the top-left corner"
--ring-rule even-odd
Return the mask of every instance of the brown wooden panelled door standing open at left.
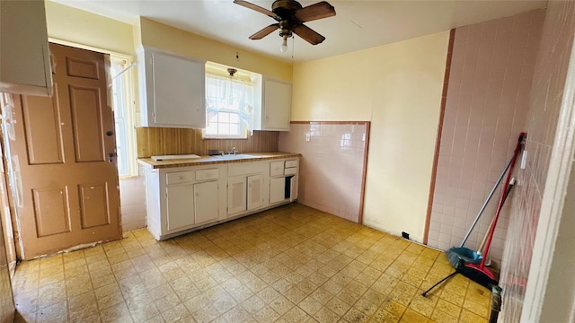
[[12, 162], [22, 258], [121, 238], [102, 53], [50, 44], [54, 97], [15, 97]]

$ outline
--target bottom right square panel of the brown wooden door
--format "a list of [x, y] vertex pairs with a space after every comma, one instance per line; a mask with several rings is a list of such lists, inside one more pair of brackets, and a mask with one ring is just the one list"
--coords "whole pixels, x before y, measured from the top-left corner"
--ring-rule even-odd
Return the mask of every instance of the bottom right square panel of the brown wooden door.
[[78, 185], [82, 229], [110, 224], [108, 211], [108, 183]]

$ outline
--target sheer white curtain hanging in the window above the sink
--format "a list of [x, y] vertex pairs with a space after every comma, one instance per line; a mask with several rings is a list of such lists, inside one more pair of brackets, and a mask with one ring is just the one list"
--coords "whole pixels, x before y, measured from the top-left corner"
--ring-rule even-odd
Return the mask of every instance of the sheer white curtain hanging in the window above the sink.
[[206, 110], [209, 119], [220, 110], [237, 112], [248, 131], [253, 132], [252, 83], [231, 76], [206, 74]]

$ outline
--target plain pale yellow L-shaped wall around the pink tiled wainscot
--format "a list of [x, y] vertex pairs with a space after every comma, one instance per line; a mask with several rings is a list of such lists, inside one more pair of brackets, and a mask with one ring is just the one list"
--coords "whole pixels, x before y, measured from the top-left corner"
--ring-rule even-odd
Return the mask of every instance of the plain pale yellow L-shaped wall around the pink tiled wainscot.
[[295, 65], [292, 120], [371, 121], [363, 222], [422, 240], [449, 32]]

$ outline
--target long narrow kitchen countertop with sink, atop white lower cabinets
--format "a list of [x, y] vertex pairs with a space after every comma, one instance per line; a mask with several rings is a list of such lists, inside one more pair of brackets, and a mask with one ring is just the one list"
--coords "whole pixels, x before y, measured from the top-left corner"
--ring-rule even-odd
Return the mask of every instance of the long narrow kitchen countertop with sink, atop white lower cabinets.
[[194, 159], [173, 159], [166, 161], [155, 161], [151, 157], [145, 157], [145, 158], [138, 158], [137, 163], [143, 165], [146, 168], [161, 169], [161, 168], [201, 166], [208, 164], [222, 164], [222, 163], [233, 163], [233, 162], [257, 162], [257, 161], [273, 160], [280, 158], [301, 157], [301, 153], [285, 153], [285, 152], [243, 153], [243, 154], [257, 157], [242, 158], [237, 160], [226, 160], [216, 156], [204, 155]]

